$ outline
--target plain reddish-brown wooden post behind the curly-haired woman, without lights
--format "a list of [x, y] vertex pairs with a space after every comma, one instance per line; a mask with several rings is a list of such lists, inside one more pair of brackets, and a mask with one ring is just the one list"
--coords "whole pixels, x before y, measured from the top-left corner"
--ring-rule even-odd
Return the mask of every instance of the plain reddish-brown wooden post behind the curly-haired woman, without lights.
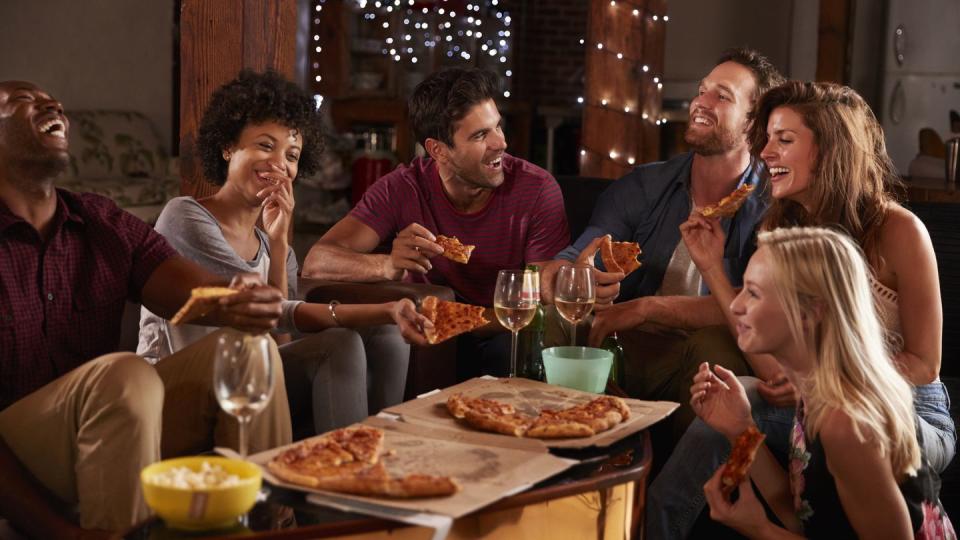
[[243, 68], [293, 78], [297, 2], [182, 0], [180, 8], [180, 193], [203, 197], [218, 187], [203, 179], [194, 144], [203, 110], [221, 84]]

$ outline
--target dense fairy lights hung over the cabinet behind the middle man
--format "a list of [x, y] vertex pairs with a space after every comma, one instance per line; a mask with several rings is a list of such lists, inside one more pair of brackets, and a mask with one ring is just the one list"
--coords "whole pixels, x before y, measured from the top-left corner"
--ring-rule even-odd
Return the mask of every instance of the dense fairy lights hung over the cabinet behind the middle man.
[[[332, 1], [332, 0], [331, 0]], [[343, 0], [349, 3], [370, 28], [370, 35], [382, 36], [381, 55], [415, 70], [418, 64], [435, 59], [439, 63], [461, 61], [491, 70], [503, 81], [503, 97], [510, 97], [513, 76], [510, 12], [501, 0]], [[314, 25], [328, 0], [315, 0]], [[314, 32], [314, 51], [323, 45]], [[323, 80], [320, 62], [312, 64], [315, 82]], [[428, 68], [429, 69], [429, 68]], [[314, 96], [317, 107], [323, 96]]]

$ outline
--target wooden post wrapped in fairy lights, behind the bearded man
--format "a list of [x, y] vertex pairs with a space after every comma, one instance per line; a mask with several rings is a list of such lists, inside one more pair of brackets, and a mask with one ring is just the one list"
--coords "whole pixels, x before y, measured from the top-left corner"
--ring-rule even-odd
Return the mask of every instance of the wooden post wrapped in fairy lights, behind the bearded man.
[[619, 178], [659, 158], [666, 11], [666, 0], [590, 0], [582, 176]]

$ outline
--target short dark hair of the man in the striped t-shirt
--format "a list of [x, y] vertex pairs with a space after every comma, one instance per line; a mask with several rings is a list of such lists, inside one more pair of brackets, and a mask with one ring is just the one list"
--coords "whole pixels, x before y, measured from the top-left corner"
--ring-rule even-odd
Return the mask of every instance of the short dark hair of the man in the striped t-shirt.
[[453, 146], [457, 122], [474, 105], [494, 99], [498, 87], [497, 76], [479, 68], [449, 68], [430, 75], [407, 102], [413, 136], [424, 146], [428, 138]]

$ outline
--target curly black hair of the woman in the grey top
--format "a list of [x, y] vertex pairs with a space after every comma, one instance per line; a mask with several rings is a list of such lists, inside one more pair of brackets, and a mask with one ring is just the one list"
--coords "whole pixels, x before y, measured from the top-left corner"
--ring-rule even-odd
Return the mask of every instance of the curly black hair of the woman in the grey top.
[[277, 122], [300, 133], [300, 174], [309, 175], [320, 168], [323, 135], [313, 98], [276, 71], [245, 69], [213, 93], [200, 120], [197, 153], [207, 180], [222, 186], [228, 166], [223, 150], [240, 140], [245, 127], [265, 122]]

